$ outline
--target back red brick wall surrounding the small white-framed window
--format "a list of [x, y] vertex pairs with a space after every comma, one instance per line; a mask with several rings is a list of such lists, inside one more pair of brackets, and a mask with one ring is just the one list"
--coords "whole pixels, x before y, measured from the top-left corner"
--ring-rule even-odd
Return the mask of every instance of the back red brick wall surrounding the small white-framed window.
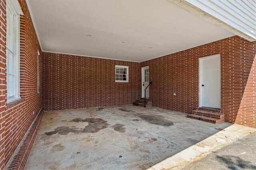
[[[130, 105], [140, 97], [140, 63], [42, 53], [44, 109]], [[115, 83], [115, 65], [129, 66], [129, 83]]]

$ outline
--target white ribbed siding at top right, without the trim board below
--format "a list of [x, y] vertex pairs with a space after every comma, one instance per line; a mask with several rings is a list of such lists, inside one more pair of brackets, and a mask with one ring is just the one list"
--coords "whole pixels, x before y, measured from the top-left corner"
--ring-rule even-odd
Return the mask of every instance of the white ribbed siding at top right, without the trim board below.
[[256, 40], [256, 0], [186, 0]]

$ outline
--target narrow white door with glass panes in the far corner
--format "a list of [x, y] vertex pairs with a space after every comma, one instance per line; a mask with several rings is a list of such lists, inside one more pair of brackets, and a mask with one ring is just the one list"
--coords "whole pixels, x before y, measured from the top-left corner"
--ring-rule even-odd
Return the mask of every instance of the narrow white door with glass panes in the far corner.
[[[141, 68], [141, 78], [142, 78], [142, 94], [141, 97], [145, 97], [145, 89], [149, 85], [149, 66]], [[149, 86], [146, 89], [146, 98], [149, 98]]]

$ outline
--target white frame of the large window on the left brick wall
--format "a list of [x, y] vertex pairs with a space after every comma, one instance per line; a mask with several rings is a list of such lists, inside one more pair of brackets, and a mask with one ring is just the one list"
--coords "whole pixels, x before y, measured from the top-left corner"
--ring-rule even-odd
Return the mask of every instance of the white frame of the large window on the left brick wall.
[[[20, 15], [19, 11], [17, 12], [17, 6], [15, 5], [16, 1], [6, 1], [6, 18], [7, 18], [7, 11], [10, 11], [10, 13], [15, 16], [15, 22], [11, 23], [14, 24], [14, 26], [11, 26], [12, 29], [14, 29], [14, 35], [15, 37], [15, 42], [11, 42], [12, 45], [15, 45], [15, 48], [8, 49], [7, 44], [8, 44], [8, 30], [7, 30], [7, 19], [6, 19], [6, 85], [7, 85], [7, 103], [10, 103], [12, 101], [20, 99]], [[9, 28], [10, 29], [10, 28]], [[10, 41], [10, 40], [9, 40]], [[8, 71], [8, 53], [11, 55], [14, 55], [14, 70], [13, 70], [13, 75], [15, 76], [14, 84], [9, 84], [8, 85], [8, 75], [10, 75]], [[10, 87], [11, 86], [11, 87]], [[8, 89], [10, 91], [14, 92], [14, 95], [8, 96]]]

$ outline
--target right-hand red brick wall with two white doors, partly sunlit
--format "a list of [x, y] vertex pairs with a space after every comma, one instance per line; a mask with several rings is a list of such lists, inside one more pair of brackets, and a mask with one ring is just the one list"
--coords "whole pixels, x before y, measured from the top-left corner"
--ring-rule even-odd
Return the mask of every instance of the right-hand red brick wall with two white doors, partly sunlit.
[[199, 107], [199, 58], [218, 53], [225, 121], [256, 127], [256, 42], [238, 36], [142, 62], [153, 79], [152, 105], [185, 113]]

